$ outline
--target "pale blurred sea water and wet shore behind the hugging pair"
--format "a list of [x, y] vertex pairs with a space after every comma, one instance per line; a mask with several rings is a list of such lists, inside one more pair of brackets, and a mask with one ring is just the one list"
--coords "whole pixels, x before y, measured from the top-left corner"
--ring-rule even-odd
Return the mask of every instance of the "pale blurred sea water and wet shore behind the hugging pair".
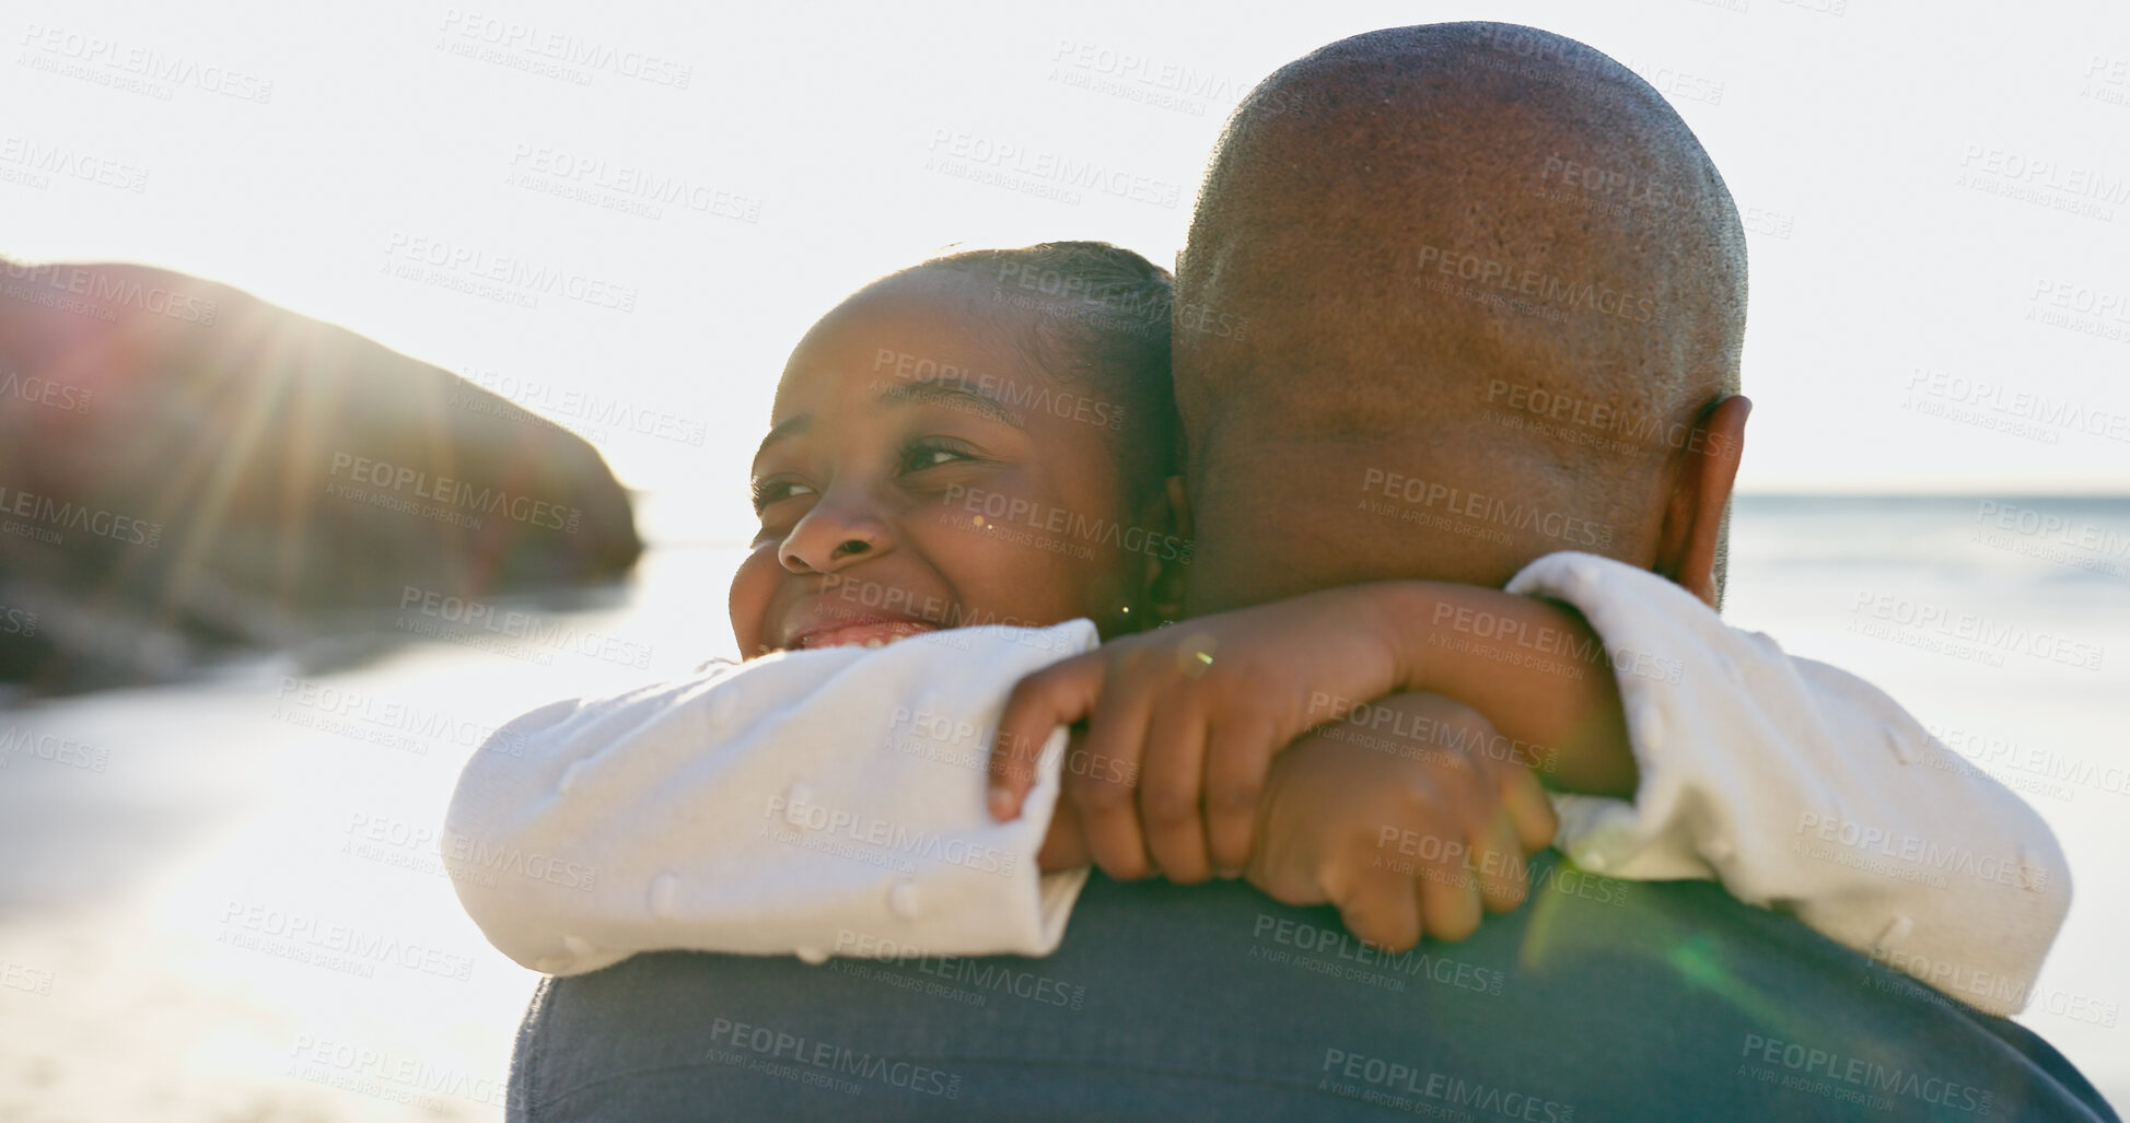
[[[435, 825], [490, 729], [731, 652], [739, 548], [650, 497], [590, 612], [0, 710], [0, 1119], [498, 1119], [535, 976]], [[1877, 682], [2062, 842], [2077, 904], [2019, 1021], [2130, 1104], [2130, 501], [1742, 499], [1740, 626]], [[354, 654], [351, 654], [354, 652]]]

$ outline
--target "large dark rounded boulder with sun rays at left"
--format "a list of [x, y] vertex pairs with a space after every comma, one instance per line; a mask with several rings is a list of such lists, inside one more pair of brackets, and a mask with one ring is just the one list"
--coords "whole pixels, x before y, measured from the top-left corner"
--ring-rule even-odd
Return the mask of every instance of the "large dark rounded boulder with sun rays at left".
[[170, 678], [637, 554], [592, 445], [443, 369], [181, 273], [0, 260], [0, 682]]

